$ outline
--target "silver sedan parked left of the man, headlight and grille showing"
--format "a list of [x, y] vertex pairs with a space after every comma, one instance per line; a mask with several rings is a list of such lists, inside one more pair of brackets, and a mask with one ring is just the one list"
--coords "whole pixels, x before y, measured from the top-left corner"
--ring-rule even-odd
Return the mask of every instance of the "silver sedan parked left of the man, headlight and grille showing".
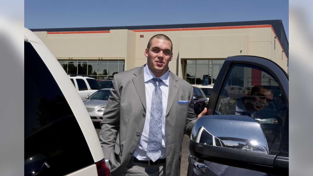
[[87, 100], [83, 100], [92, 122], [101, 122], [103, 111], [110, 96], [110, 89], [96, 91]]

